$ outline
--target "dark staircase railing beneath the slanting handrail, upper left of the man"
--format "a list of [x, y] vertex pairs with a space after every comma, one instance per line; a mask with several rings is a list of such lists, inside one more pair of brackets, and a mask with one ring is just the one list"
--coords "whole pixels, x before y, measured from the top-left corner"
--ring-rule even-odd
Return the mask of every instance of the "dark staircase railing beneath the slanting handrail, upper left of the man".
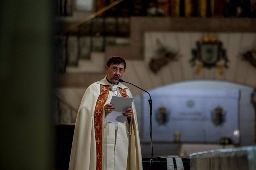
[[[109, 27], [109, 18], [97, 17], [122, 1], [124, 0], [116, 0], [85, 19], [66, 25], [66, 28], [56, 35], [55, 57], [57, 72], [65, 73], [67, 65], [76, 67], [79, 59], [89, 59], [92, 51], [103, 52], [106, 45], [115, 45], [115, 37], [120, 35], [121, 31], [116, 28], [115, 33], [109, 35], [108, 33], [111, 32], [107, 29]], [[115, 26], [118, 26], [117, 22], [117, 18], [112, 18], [110, 22], [112, 26], [110, 27], [115, 28]], [[129, 26], [129, 24], [127, 25]], [[127, 33], [129, 33], [129, 30], [127, 30]]]

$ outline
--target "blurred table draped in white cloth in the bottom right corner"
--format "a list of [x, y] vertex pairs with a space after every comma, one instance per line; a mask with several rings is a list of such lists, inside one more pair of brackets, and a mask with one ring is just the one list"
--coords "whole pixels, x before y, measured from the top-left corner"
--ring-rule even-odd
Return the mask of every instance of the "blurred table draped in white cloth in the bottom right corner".
[[192, 153], [190, 170], [256, 170], [256, 146]]

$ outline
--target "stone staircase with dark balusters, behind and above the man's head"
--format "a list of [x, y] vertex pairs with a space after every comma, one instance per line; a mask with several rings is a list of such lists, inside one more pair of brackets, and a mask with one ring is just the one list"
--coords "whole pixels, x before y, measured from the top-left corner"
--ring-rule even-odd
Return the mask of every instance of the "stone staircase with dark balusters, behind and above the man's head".
[[[62, 28], [59, 33], [65, 32], [72, 27], [72, 24], [81, 21], [82, 16], [89, 16], [89, 13], [74, 12], [69, 17], [57, 17], [58, 25]], [[59, 72], [102, 72], [107, 46], [130, 45], [129, 18], [95, 17], [58, 36], [56, 40], [57, 67], [61, 67], [57, 68]]]

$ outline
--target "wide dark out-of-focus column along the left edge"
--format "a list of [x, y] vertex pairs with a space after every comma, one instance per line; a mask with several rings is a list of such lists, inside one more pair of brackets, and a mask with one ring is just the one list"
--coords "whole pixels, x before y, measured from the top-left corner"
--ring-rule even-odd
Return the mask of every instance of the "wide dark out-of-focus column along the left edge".
[[52, 0], [0, 0], [0, 169], [53, 169]]

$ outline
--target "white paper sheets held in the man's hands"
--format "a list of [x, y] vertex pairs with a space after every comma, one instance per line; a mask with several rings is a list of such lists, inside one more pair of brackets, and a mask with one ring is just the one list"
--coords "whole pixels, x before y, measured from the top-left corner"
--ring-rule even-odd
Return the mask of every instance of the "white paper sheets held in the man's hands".
[[134, 98], [125, 98], [112, 96], [110, 101], [115, 106], [115, 109], [108, 114], [107, 122], [125, 122], [127, 117], [123, 116], [123, 111], [130, 108]]

